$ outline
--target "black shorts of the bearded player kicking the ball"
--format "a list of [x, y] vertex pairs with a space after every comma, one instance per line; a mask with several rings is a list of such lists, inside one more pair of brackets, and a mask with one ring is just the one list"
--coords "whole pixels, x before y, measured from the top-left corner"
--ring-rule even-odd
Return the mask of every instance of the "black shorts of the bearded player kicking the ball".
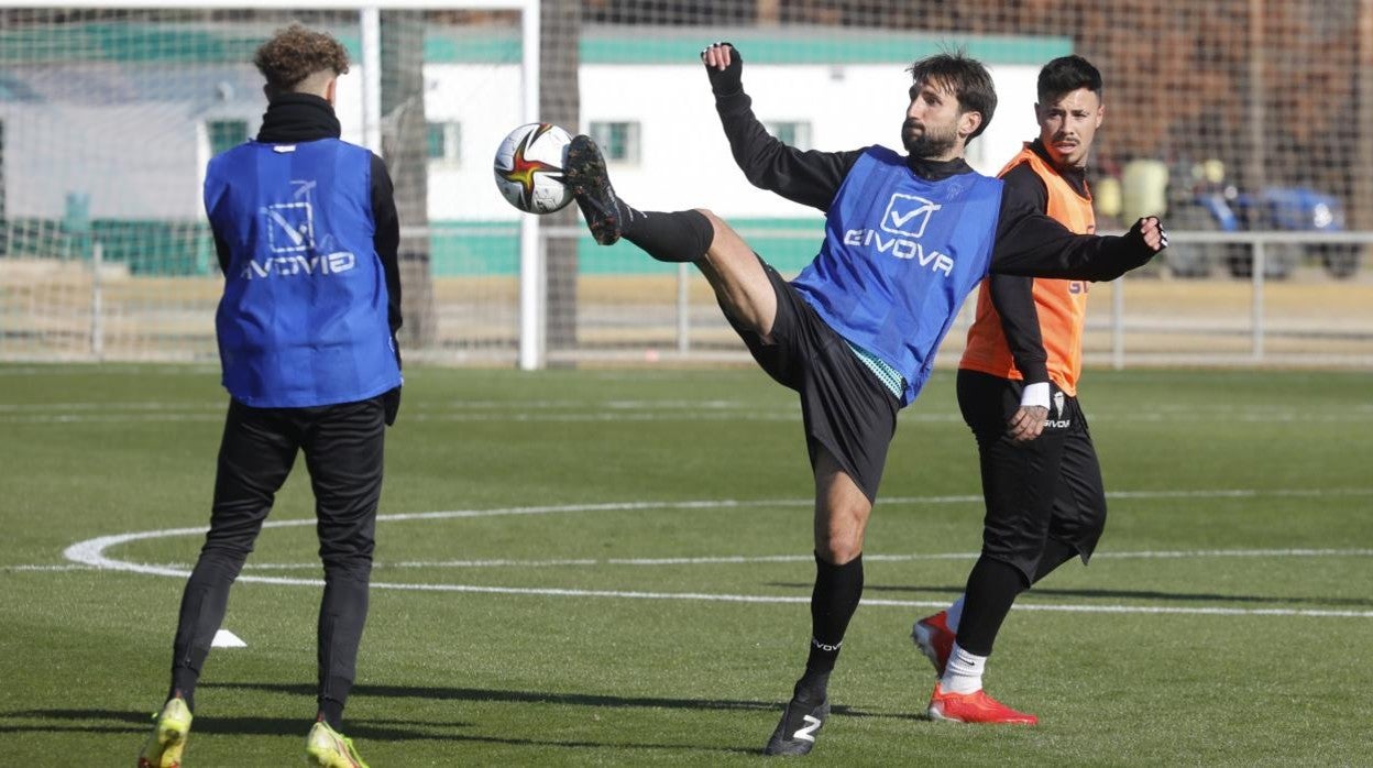
[[725, 317], [762, 370], [800, 394], [811, 468], [820, 451], [828, 451], [868, 500], [876, 501], [901, 400], [791, 283], [759, 262], [777, 293], [772, 342], [763, 343], [758, 334], [730, 317], [728, 309]]

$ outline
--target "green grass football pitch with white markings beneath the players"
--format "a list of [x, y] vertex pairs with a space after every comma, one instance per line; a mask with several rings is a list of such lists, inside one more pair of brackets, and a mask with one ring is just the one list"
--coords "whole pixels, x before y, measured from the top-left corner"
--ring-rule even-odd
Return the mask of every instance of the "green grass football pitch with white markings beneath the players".
[[[413, 368], [346, 731], [373, 768], [735, 765], [805, 659], [811, 482], [751, 368]], [[1373, 732], [1373, 378], [1089, 371], [1111, 519], [931, 723], [910, 622], [978, 550], [953, 375], [902, 414], [818, 765], [1354, 765]], [[209, 515], [217, 371], [0, 365], [0, 763], [132, 765]], [[298, 764], [320, 569], [303, 464], [196, 695], [188, 767]], [[287, 523], [287, 525], [276, 525]], [[133, 536], [141, 534], [141, 536]], [[102, 539], [108, 537], [108, 539]], [[92, 543], [93, 541], [93, 543]], [[107, 567], [78, 565], [104, 558]]]

